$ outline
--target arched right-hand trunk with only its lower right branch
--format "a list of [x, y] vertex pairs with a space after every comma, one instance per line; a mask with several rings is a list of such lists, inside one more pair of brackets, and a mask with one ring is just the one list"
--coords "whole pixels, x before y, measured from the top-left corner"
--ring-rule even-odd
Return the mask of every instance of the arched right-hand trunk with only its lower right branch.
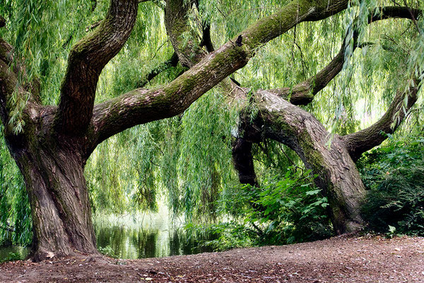
[[[408, 105], [404, 108], [402, 102], [406, 97]], [[252, 154], [246, 152], [252, 143], [266, 138], [279, 141], [293, 149], [317, 175], [315, 183], [329, 200], [336, 233], [356, 231], [363, 226], [360, 204], [365, 197], [365, 187], [354, 160], [387, 139], [381, 132], [394, 132], [416, 100], [417, 88], [398, 91], [386, 114], [374, 125], [340, 137], [331, 136], [310, 112], [270, 91], [257, 91], [254, 96], [257, 117], [251, 120], [249, 112], [242, 114], [242, 137], [237, 138], [232, 151], [240, 182], [257, 184]]]

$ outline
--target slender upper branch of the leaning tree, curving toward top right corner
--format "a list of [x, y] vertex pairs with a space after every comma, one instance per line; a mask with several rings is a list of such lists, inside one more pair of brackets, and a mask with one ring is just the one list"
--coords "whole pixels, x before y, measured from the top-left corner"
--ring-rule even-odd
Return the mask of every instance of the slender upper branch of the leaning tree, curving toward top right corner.
[[[422, 11], [417, 9], [411, 9], [408, 7], [399, 6], [388, 6], [383, 8], [377, 8], [374, 13], [368, 18], [368, 23], [380, 21], [388, 18], [408, 18], [413, 19], [422, 15]], [[358, 47], [358, 19], [356, 19], [352, 25], [353, 27], [353, 51]], [[321, 91], [326, 85], [337, 76], [338, 73], [343, 69], [345, 63], [345, 52], [346, 52], [346, 40], [347, 36], [343, 40], [340, 51], [331, 60], [331, 62], [324, 67], [319, 73], [311, 76], [309, 79], [298, 83], [293, 88], [276, 88], [269, 90], [270, 93], [276, 94], [283, 98], [290, 98], [290, 103], [294, 105], [307, 105], [310, 103], [314, 96]]]

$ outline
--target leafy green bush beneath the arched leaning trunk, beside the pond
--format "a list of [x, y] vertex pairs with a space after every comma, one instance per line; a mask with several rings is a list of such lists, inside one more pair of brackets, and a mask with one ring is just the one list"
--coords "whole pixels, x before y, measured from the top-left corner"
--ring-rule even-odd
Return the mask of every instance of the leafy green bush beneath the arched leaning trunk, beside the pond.
[[288, 171], [261, 187], [240, 185], [219, 205], [232, 221], [203, 227], [218, 238], [206, 242], [216, 250], [245, 246], [314, 241], [333, 234], [321, 190], [310, 172], [296, 176]]

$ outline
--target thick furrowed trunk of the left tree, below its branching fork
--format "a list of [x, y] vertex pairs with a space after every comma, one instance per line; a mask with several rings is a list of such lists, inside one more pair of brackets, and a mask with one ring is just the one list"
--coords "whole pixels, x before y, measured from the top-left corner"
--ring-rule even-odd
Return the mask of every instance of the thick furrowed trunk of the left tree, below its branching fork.
[[[96, 254], [84, 159], [75, 141], [37, 134], [8, 144], [25, 178], [33, 216], [33, 259]], [[15, 136], [16, 137], [16, 136]]]

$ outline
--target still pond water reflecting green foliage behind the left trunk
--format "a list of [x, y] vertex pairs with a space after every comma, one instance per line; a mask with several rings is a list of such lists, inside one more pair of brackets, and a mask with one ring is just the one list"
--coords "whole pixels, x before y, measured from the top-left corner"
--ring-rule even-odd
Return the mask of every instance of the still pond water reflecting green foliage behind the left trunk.
[[[182, 229], [182, 221], [170, 221], [167, 209], [155, 214], [95, 216], [94, 229], [100, 252], [116, 258], [161, 258], [211, 251], [199, 242], [211, 238], [194, 238]], [[13, 253], [13, 255], [11, 254]], [[25, 258], [29, 248], [0, 247], [0, 262], [6, 258]]]

